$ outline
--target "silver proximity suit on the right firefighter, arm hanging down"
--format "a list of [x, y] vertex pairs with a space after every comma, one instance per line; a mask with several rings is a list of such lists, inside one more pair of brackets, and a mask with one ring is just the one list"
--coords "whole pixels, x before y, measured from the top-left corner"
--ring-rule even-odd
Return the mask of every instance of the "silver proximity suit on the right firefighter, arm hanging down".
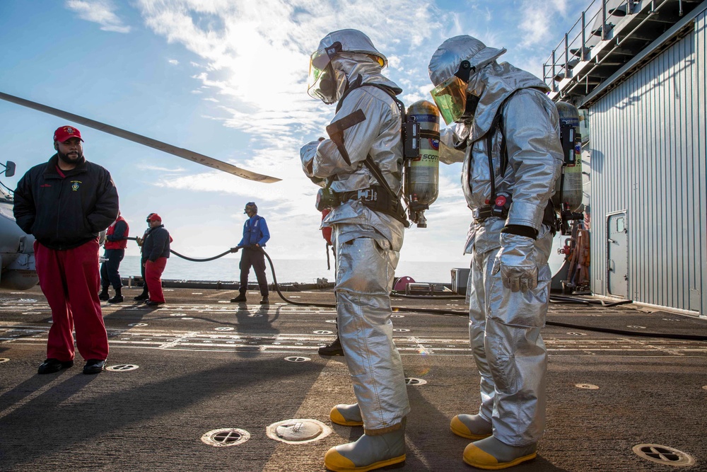
[[[549, 302], [553, 233], [542, 222], [563, 158], [559, 118], [545, 95], [547, 86], [507, 62], [498, 64], [504, 52], [457, 36], [439, 47], [429, 73], [440, 86], [462, 61], [471, 65], [466, 92], [478, 97], [477, 108], [472, 117], [444, 129], [440, 139], [440, 161], [463, 161], [467, 205], [472, 211], [489, 205], [491, 178], [496, 195], [511, 197], [507, 217], [472, 221], [464, 253], [472, 254], [467, 297], [469, 340], [481, 375], [479, 415], [493, 425], [493, 437], [522, 447], [537, 442], [545, 426], [547, 351], [540, 330]], [[485, 135], [498, 110], [502, 118], [501, 126], [491, 130], [491, 172]], [[503, 136], [507, 164], [501, 156]], [[533, 239], [502, 232], [508, 226], [537, 234]]]

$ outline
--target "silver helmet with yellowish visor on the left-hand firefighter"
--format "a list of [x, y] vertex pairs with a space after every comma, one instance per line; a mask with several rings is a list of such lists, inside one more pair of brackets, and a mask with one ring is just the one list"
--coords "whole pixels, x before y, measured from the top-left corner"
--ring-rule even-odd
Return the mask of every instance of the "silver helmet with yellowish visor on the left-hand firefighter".
[[346, 89], [346, 74], [332, 67], [332, 59], [341, 52], [368, 54], [385, 67], [388, 60], [381, 54], [370, 38], [359, 30], [338, 30], [329, 33], [310, 56], [310, 71], [307, 93], [319, 98], [327, 105], [337, 103]]

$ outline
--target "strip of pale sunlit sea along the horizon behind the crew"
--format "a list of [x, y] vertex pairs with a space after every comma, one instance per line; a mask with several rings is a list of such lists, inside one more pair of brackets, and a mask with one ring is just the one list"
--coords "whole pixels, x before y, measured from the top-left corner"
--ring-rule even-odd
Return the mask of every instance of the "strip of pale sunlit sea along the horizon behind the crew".
[[[162, 278], [165, 280], [208, 280], [235, 282], [240, 277], [238, 269], [240, 258], [221, 258], [206, 263], [194, 263], [173, 255], [169, 258]], [[326, 260], [274, 259], [272, 261], [275, 276], [279, 283], [299, 282], [301, 284], [315, 283], [317, 279], [327, 279], [334, 282], [334, 260], [331, 268], [327, 268]], [[272, 282], [271, 268], [265, 261], [269, 282]], [[464, 267], [453, 262], [419, 262], [401, 260], [395, 271], [396, 277], [411, 277], [416, 282], [450, 283], [452, 269]], [[467, 265], [466, 268], [469, 266]], [[140, 257], [126, 255], [120, 263], [121, 277], [140, 277]], [[250, 281], [255, 282], [255, 272], [250, 270]]]

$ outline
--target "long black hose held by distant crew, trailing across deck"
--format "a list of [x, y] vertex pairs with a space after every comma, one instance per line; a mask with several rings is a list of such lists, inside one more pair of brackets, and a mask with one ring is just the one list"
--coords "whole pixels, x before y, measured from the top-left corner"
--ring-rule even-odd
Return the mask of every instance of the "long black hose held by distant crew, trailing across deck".
[[[132, 241], [135, 241], [136, 238], [129, 237], [127, 239], [130, 239]], [[263, 248], [259, 248], [259, 250], [265, 255], [267, 258], [267, 261], [270, 265], [270, 273], [272, 274], [272, 280], [273, 280], [273, 287], [275, 289], [275, 292], [279, 295], [281, 299], [286, 301], [288, 304], [291, 305], [296, 305], [296, 306], [317, 306], [319, 308], [336, 308], [336, 304], [325, 304], [325, 303], [305, 303], [302, 301], [293, 301], [285, 297], [282, 292], [280, 291], [280, 285], [277, 283], [277, 277], [275, 275], [275, 267], [272, 263], [272, 259], [268, 255], [267, 252]], [[221, 253], [219, 255], [215, 255], [212, 258], [206, 258], [206, 259], [194, 259], [194, 258], [187, 258], [187, 256], [182, 255], [180, 253], [177, 253], [176, 251], [172, 251], [170, 249], [170, 253], [173, 253], [174, 255], [177, 255], [178, 257], [186, 260], [191, 260], [192, 262], [208, 262], [209, 260], [215, 260], [218, 258], [222, 258], [226, 254], [230, 254], [232, 251], [229, 249], [228, 251]], [[395, 292], [392, 293], [393, 295], [397, 297], [404, 297], [404, 298], [411, 298], [411, 299], [462, 299], [464, 297], [462, 296], [446, 296], [446, 297], [431, 297], [431, 296], [414, 296], [414, 295], [402, 295], [402, 294], [397, 294]], [[603, 300], [587, 300], [587, 299], [578, 299], [575, 297], [567, 297], [567, 296], [559, 296], [559, 295], [551, 295], [550, 296], [550, 301], [553, 303], [575, 303], [575, 304], [601, 304], [602, 306], [609, 308], [610, 306], [618, 306], [618, 305], [624, 305], [624, 304], [629, 304], [632, 303], [631, 300], [621, 300], [621, 301], [614, 301], [614, 302], [604, 302]], [[392, 311], [397, 312], [397, 311], [409, 311], [411, 313], [431, 313], [433, 315], [446, 315], [446, 316], [469, 316], [468, 311], [458, 311], [458, 310], [445, 310], [445, 309], [428, 309], [428, 308], [411, 308], [408, 306], [393, 306]], [[690, 335], [690, 334], [666, 334], [666, 333], [640, 333], [638, 331], [626, 331], [626, 330], [617, 330], [617, 329], [612, 329], [612, 328], [595, 328], [592, 326], [583, 326], [583, 325], [575, 325], [572, 323], [559, 323], [557, 321], [546, 321], [547, 325], [549, 326], [559, 326], [561, 328], [573, 328], [573, 329], [578, 329], [578, 330], [585, 330], [585, 331], [595, 331], [597, 333], [610, 333], [610, 334], [618, 334], [618, 335], [624, 335], [624, 336], [637, 336], [637, 337], [642, 337], [642, 338], [664, 338], [664, 339], [679, 339], [679, 340], [692, 340], [692, 341], [707, 341], [707, 336], [703, 335]]]

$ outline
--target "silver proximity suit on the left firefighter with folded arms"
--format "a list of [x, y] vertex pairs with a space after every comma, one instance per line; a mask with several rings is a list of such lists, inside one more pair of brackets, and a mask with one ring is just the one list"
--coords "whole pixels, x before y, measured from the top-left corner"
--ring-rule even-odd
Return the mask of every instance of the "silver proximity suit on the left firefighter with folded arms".
[[[361, 84], [380, 84], [400, 93], [401, 89], [381, 74], [385, 57], [380, 53], [375, 54], [378, 57], [366, 54], [376, 50], [365, 35], [355, 30], [336, 31], [320, 42], [320, 50], [335, 42], [341, 43], [343, 49], [331, 60], [337, 86], [333, 91], [327, 88], [332, 91], [329, 95], [317, 93], [317, 98], [336, 103], [359, 76]], [[368, 189], [378, 185], [363, 165], [370, 155], [390, 188], [400, 195], [401, 115], [395, 101], [380, 88], [364, 85], [349, 91], [339, 107], [332, 122], [356, 110], [363, 110], [366, 117], [344, 130], [344, 148], [351, 163], [346, 163], [331, 139], [310, 142], [300, 151], [305, 174], [322, 186], [325, 184], [322, 180], [326, 180], [339, 195]], [[339, 336], [354, 393], [366, 433], [381, 434], [399, 428], [410, 410], [390, 321], [390, 291], [404, 226], [390, 214], [351, 198], [334, 207], [323, 225], [333, 229]]]

